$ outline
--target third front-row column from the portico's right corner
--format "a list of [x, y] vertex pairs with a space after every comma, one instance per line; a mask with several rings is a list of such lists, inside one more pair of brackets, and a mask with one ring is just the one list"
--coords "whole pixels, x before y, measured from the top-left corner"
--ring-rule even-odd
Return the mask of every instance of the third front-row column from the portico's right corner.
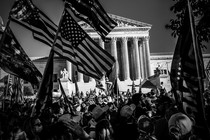
[[130, 80], [130, 68], [128, 58], [128, 38], [122, 38], [122, 55], [123, 55], [123, 69], [124, 69], [124, 80]]

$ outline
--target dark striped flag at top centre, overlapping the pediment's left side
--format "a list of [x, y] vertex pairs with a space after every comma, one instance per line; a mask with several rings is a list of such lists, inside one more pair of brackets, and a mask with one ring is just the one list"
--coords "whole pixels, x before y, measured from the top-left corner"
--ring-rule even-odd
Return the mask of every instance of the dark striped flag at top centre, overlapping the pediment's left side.
[[106, 36], [117, 26], [98, 0], [66, 0], [77, 18], [88, 23], [106, 41]]

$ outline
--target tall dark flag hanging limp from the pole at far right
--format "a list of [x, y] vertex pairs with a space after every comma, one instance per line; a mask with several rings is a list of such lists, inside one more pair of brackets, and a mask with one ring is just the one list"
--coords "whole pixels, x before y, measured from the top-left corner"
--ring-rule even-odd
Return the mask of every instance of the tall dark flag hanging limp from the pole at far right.
[[[196, 125], [201, 125], [205, 114], [202, 98], [204, 88], [203, 83], [200, 84], [200, 82], [205, 78], [205, 72], [201, 48], [192, 43], [193, 30], [190, 28], [190, 12], [188, 9], [185, 11], [172, 59], [170, 79], [180, 109], [193, 117]], [[194, 37], [196, 41], [196, 36]]]

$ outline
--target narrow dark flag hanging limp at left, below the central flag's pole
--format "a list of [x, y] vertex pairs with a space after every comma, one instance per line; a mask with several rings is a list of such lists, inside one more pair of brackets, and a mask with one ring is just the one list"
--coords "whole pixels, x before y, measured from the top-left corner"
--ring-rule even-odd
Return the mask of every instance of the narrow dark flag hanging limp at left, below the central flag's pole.
[[40, 116], [44, 109], [52, 105], [53, 57], [54, 52], [51, 50], [31, 116]]

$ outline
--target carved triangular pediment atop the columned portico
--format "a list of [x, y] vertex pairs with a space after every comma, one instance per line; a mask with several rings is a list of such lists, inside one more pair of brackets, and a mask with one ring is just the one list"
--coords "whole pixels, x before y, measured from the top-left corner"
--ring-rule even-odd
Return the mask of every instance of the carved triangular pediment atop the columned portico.
[[[119, 29], [119, 28], [146, 28], [146, 29], [150, 29], [152, 27], [151, 24], [136, 21], [136, 20], [133, 20], [133, 19], [128, 19], [128, 18], [125, 18], [125, 17], [113, 15], [113, 14], [109, 14], [109, 16], [117, 23], [117, 27], [115, 27], [115, 29]], [[84, 21], [79, 21], [78, 23], [83, 29], [92, 29], [92, 27]]]

